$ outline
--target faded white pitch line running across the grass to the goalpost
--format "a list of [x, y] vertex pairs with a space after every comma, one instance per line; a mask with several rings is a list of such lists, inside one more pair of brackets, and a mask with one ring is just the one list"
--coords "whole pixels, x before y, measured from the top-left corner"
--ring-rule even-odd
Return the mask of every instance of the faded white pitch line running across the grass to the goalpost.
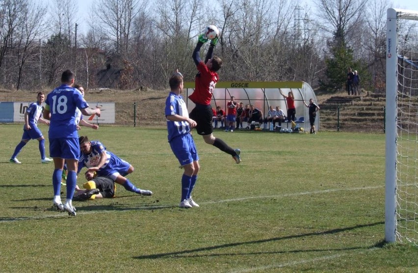
[[[336, 192], [336, 191], [360, 191], [360, 190], [373, 190], [373, 189], [380, 189], [380, 188], [384, 188], [384, 186], [358, 187], [358, 188], [349, 188], [349, 189], [329, 189], [329, 190], [322, 190], [322, 191], [306, 191], [306, 192], [285, 193], [285, 194], [264, 195], [264, 196], [247, 196], [247, 197], [224, 199], [224, 200], [217, 200], [217, 201], [207, 201], [207, 202], [199, 202], [199, 203], [200, 204], [216, 204], [216, 203], [225, 203], [225, 202], [245, 201], [245, 200], [251, 200], [251, 199], [282, 198], [282, 197], [288, 197], [288, 196], [320, 194], [320, 193]], [[144, 206], [144, 207], [137, 207], [136, 209], [137, 210], [150, 210], [150, 209], [161, 209], [161, 208], [170, 208], [170, 207], [176, 208], [177, 206], [174, 206], [174, 205], [173, 206], [170, 206], [170, 205]], [[126, 210], [118, 210], [118, 212], [127, 212], [127, 211], [132, 211], [133, 209], [135, 209], [135, 207], [130, 207], [130, 208], [127, 208]], [[85, 215], [85, 214], [96, 214], [96, 213], [110, 213], [110, 212], [115, 212], [115, 211], [116, 210], [80, 211], [80, 212], [77, 212], [77, 214]], [[63, 213], [66, 213], [66, 212], [63, 212]], [[0, 223], [22, 221], [22, 220], [39, 220], [39, 219], [58, 218], [58, 217], [63, 217], [63, 215], [61, 213], [58, 213], [56, 215], [48, 215], [48, 216], [17, 217], [17, 218], [0, 219]]]

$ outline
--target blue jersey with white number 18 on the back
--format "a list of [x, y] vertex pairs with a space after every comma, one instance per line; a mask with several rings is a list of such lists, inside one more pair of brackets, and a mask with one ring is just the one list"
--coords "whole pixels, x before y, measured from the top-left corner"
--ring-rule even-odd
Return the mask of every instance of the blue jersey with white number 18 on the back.
[[81, 93], [63, 84], [48, 94], [45, 103], [51, 113], [49, 138], [78, 137], [76, 109], [88, 107]]

